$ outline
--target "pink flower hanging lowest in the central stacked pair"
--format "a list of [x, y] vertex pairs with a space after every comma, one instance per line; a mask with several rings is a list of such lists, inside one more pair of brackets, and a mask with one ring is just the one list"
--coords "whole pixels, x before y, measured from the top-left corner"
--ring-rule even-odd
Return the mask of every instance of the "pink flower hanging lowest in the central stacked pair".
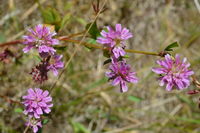
[[106, 72], [106, 76], [109, 78], [109, 80], [112, 81], [112, 85], [120, 85], [120, 91], [126, 92], [128, 91], [128, 87], [126, 85], [126, 82], [128, 83], [137, 83], [138, 78], [135, 76], [135, 72], [131, 72], [130, 65], [126, 64], [125, 61], [121, 62], [112, 62], [109, 69], [111, 72]]

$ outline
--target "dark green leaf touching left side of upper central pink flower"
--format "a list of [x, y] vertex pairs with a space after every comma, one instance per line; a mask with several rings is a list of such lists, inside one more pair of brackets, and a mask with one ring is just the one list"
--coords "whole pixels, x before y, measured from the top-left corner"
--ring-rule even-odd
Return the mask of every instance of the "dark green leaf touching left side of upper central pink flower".
[[[89, 29], [90, 28], [90, 29]], [[100, 36], [100, 31], [97, 27], [96, 22], [94, 23], [89, 23], [86, 25], [86, 30], [88, 30], [88, 33], [92, 36], [93, 39], [97, 39], [98, 36]]]

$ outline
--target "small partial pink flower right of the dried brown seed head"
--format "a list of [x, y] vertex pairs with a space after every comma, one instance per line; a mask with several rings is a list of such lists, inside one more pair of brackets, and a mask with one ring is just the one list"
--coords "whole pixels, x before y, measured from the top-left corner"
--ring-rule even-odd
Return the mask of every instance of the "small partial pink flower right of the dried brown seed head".
[[48, 69], [52, 70], [55, 76], [58, 75], [58, 69], [64, 67], [64, 63], [61, 61], [62, 57], [62, 55], [54, 55], [50, 59], [50, 65], [48, 66]]

